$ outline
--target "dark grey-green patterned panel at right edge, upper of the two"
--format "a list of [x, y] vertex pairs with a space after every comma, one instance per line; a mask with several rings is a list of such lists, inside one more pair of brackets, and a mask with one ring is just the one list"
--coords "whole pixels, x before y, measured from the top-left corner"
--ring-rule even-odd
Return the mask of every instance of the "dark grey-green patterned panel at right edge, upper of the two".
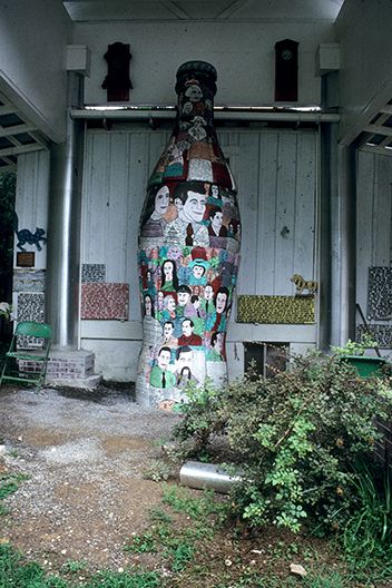
[[392, 317], [392, 267], [370, 267], [367, 283], [367, 318]]

